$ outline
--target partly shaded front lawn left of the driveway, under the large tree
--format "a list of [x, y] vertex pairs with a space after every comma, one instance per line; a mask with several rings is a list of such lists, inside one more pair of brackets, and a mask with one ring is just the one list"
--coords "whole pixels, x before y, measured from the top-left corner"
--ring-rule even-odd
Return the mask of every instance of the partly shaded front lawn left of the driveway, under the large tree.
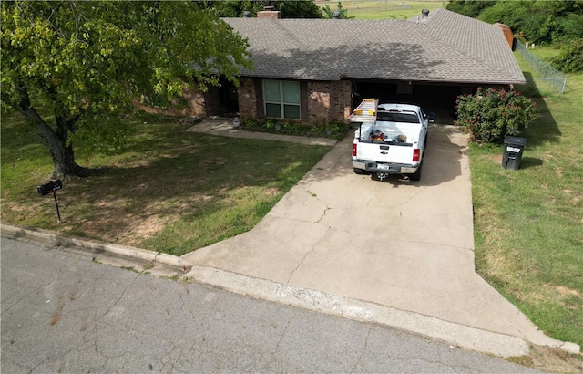
[[53, 170], [48, 149], [19, 114], [2, 118], [2, 219], [183, 255], [250, 230], [331, 147], [221, 138], [156, 118], [127, 123], [111, 154], [77, 150], [77, 162], [107, 168], [66, 181], [52, 196], [36, 186]]

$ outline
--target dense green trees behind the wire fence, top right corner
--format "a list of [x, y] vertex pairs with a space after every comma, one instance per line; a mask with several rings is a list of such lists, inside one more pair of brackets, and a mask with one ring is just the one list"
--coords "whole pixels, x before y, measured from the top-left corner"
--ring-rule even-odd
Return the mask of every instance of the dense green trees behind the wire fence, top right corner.
[[446, 9], [487, 23], [502, 23], [530, 43], [560, 48], [549, 61], [565, 73], [583, 71], [583, 1], [453, 0]]

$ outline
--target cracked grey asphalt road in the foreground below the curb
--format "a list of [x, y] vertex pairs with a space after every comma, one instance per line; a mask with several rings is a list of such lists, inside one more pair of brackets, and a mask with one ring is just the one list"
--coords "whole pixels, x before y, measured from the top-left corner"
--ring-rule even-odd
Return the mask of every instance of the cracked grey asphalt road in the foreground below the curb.
[[5, 237], [1, 262], [5, 373], [538, 372]]

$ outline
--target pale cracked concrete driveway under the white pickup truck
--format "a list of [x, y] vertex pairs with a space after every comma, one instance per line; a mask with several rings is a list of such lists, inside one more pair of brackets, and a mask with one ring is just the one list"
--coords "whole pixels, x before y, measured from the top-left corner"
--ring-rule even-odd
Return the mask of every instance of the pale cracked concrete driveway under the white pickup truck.
[[348, 136], [250, 232], [183, 259], [273, 282], [280, 294], [288, 287], [312, 304], [330, 304], [315, 292], [412, 312], [404, 328], [436, 338], [455, 340], [463, 326], [557, 346], [476, 275], [466, 144], [453, 126], [432, 125], [421, 181], [379, 182], [353, 173]]

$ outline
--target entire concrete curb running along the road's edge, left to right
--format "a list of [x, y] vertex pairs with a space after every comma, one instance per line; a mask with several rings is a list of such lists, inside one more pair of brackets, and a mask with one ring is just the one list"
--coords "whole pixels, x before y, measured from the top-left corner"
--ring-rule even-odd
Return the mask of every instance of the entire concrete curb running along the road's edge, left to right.
[[[270, 280], [254, 278], [249, 275], [240, 275], [209, 266], [193, 266], [186, 260], [175, 255], [157, 253], [128, 245], [81, 239], [71, 235], [56, 234], [43, 229], [18, 227], [5, 223], [0, 223], [0, 232], [3, 236], [16, 239], [28, 238], [45, 243], [74, 246], [151, 263], [169, 265], [179, 268], [182, 272], [189, 270], [185, 276], [199, 284], [220, 287], [231, 293], [301, 307], [335, 317], [344, 317], [398, 328], [425, 337], [435, 338], [455, 347], [487, 353], [497, 357], [525, 356], [530, 351], [530, 345], [522, 338], [486, 331], [476, 327], [467, 327], [436, 317], [408, 312], [390, 306], [381, 306], [362, 300], [325, 294], [312, 289], [283, 285]], [[549, 338], [547, 343], [547, 346], [550, 348], [559, 348], [570, 354], [579, 354], [580, 347], [578, 344], [551, 338]]]

